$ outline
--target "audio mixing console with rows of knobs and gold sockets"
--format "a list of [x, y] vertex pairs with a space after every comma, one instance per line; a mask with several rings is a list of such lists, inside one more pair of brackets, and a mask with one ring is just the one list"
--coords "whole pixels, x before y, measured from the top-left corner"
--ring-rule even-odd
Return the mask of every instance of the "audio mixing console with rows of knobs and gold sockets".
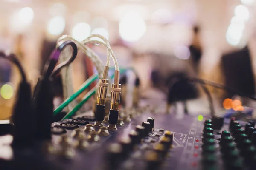
[[256, 169], [254, 122], [197, 118], [143, 113], [119, 119], [117, 130], [107, 122], [94, 127], [86, 116], [65, 119], [52, 124], [51, 142], [12, 149], [9, 136], [1, 137], [1, 169]]

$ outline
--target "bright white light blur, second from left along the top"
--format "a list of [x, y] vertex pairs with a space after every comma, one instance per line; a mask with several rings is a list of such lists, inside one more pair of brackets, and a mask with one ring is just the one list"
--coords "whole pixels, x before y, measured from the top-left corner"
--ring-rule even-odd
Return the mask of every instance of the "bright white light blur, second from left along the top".
[[60, 35], [65, 28], [65, 19], [62, 16], [53, 17], [48, 25], [47, 31], [52, 35]]

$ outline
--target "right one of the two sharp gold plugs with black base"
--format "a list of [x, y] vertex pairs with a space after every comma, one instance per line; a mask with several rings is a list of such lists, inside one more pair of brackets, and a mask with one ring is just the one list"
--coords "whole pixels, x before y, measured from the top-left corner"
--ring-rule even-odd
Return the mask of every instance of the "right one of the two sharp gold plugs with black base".
[[110, 110], [108, 116], [108, 129], [116, 130], [116, 124], [118, 120], [118, 109], [121, 96], [121, 84], [119, 84], [120, 71], [115, 70], [115, 80], [114, 84], [111, 85], [111, 100], [110, 100]]

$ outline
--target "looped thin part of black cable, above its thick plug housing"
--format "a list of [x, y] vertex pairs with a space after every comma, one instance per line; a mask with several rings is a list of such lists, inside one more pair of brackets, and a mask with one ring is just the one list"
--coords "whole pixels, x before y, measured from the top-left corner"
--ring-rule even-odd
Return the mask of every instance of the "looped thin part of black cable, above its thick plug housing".
[[[55, 67], [55, 65], [57, 64], [58, 59], [61, 55], [61, 51], [67, 45], [70, 45], [73, 48], [72, 56], [67, 61], [62, 62], [61, 64], [59, 64]], [[58, 74], [58, 72], [61, 70], [61, 68], [69, 65], [71, 62], [74, 61], [74, 59], [76, 59], [78, 49], [77, 49], [75, 42], [73, 42], [71, 40], [60, 41], [57, 46], [58, 46], [58, 48], [56, 48], [54, 51], [52, 51], [50, 59], [44, 66], [44, 71], [43, 71], [44, 77], [50, 77], [50, 76], [54, 77], [56, 74]]]

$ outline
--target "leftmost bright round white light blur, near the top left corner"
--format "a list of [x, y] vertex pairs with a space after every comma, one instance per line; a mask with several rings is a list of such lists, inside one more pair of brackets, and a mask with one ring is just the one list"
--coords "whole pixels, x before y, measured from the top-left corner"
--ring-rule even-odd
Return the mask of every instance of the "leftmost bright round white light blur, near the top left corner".
[[29, 8], [29, 7], [22, 8], [18, 13], [19, 23], [23, 25], [28, 25], [32, 23], [33, 19], [34, 19], [34, 11], [32, 8]]

